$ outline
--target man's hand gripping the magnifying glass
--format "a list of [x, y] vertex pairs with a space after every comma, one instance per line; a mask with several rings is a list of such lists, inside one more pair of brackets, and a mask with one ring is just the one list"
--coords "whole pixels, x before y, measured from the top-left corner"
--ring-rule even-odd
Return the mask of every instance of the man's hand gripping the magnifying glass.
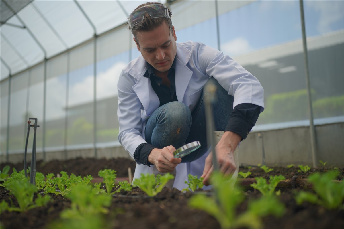
[[175, 167], [182, 162], [181, 158], [174, 158], [173, 146], [166, 146], [162, 149], [152, 149], [148, 156], [148, 161], [157, 167], [157, 170], [162, 173], [172, 172]]

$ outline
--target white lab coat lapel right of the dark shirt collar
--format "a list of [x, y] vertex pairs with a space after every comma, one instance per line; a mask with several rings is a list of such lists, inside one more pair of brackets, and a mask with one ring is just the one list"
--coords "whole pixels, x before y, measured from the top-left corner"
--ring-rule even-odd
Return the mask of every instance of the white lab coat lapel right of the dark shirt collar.
[[[187, 86], [189, 85], [192, 71], [186, 67], [191, 57], [191, 51], [186, 49], [184, 46], [177, 43], [177, 55], [175, 65], [175, 91], [177, 99], [180, 102], [184, 101], [184, 95]], [[189, 105], [189, 104], [186, 104]]]

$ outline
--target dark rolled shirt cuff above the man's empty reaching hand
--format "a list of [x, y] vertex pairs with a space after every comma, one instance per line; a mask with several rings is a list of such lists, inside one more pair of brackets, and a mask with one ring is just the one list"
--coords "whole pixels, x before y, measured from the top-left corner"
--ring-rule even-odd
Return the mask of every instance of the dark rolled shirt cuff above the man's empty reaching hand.
[[256, 124], [260, 114], [260, 106], [243, 103], [234, 107], [229, 116], [225, 131], [232, 131], [241, 136], [244, 140], [252, 127]]

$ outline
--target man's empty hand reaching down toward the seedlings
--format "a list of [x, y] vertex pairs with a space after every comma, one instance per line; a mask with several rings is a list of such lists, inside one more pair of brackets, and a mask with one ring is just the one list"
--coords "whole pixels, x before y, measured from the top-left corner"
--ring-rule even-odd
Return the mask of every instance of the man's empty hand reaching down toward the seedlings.
[[[220, 172], [224, 174], [233, 174], [236, 170], [234, 151], [241, 140], [241, 136], [232, 132], [225, 131], [221, 139], [215, 146], [217, 163]], [[210, 152], [205, 159], [204, 170], [202, 174], [203, 184], [209, 185], [209, 178], [214, 170], [213, 167], [213, 152]]]

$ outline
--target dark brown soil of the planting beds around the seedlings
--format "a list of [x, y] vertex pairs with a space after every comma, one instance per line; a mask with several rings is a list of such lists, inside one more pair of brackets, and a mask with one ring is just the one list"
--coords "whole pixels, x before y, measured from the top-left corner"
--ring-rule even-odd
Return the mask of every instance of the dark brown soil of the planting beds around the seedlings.
[[[0, 169], [2, 170], [3, 164]], [[18, 167], [17, 167], [18, 166]], [[17, 171], [22, 170], [22, 165], [11, 165]], [[66, 171], [67, 174], [94, 177], [98, 176], [101, 169], [114, 169], [118, 177], [128, 176], [128, 167], [135, 170], [135, 162], [130, 159], [74, 159], [68, 161], [37, 162], [37, 171], [43, 174]], [[121, 169], [122, 168], [122, 169]], [[74, 169], [74, 170], [73, 170]], [[297, 172], [298, 168], [286, 169], [274, 167], [274, 170], [265, 173], [259, 168], [240, 168], [239, 171], [250, 170], [252, 174], [268, 178], [270, 175], [282, 174], [286, 179], [297, 175], [298, 178], [307, 178], [303, 172]], [[322, 171], [325, 170], [315, 170]], [[311, 170], [310, 172], [315, 172]], [[340, 169], [343, 176], [343, 169]], [[120, 175], [119, 175], [120, 174]], [[341, 180], [341, 179], [338, 179]], [[209, 192], [211, 194], [211, 192]], [[237, 206], [237, 214], [247, 209], [250, 199], [259, 198], [261, 194], [257, 191], [247, 191], [245, 201]], [[191, 209], [187, 202], [194, 195], [190, 192], [181, 193], [173, 189], [164, 190], [155, 197], [148, 197], [139, 188], [131, 192], [122, 191], [112, 197], [112, 204], [109, 207], [109, 214], [106, 215], [107, 228], [220, 228], [216, 219], [204, 211]], [[59, 219], [63, 209], [69, 208], [71, 202], [68, 198], [60, 195], [51, 195], [53, 201], [46, 207], [33, 208], [25, 213], [4, 212], [0, 215], [1, 224], [4, 228], [47, 228], [48, 225]], [[3, 187], [0, 187], [0, 202], [7, 201], [9, 204], [18, 206], [15, 197]], [[11, 200], [11, 201], [10, 201]], [[281, 202], [286, 206], [287, 211], [281, 218], [268, 216], [263, 218], [264, 228], [344, 228], [344, 210], [327, 210], [322, 206], [304, 202], [297, 205], [292, 190], [282, 191]], [[119, 210], [121, 209], [121, 210]]]

